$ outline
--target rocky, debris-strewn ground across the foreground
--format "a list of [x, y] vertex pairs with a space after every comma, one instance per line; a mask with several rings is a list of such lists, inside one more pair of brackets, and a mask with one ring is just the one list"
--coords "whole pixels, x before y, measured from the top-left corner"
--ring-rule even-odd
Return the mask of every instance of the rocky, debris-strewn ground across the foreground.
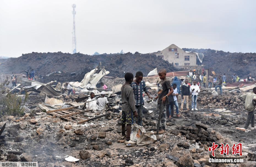
[[[112, 79], [102, 78], [104, 82]], [[119, 78], [121, 83], [123, 78]], [[154, 79], [152, 80], [152, 82]], [[150, 80], [151, 82], [151, 80]], [[56, 84], [56, 83], [51, 83]], [[46, 86], [45, 86], [46, 87]], [[44, 88], [43, 88], [44, 89]], [[43, 91], [43, 89], [41, 91]], [[149, 90], [152, 97], [156, 90]], [[180, 111], [181, 117], [167, 119], [167, 132], [156, 135], [152, 144], [126, 147], [121, 138], [121, 106], [110, 111], [95, 112], [96, 115], [109, 114], [93, 121], [77, 124], [58, 116], [46, 113], [37, 106], [46, 103], [45, 96], [33, 92], [26, 106], [29, 113], [20, 116], [1, 116], [0, 127], [6, 124], [0, 136], [0, 161], [38, 161], [39, 166], [255, 166], [256, 130], [248, 133], [236, 130], [244, 127], [247, 113], [239, 98], [246, 92], [224, 90], [222, 96], [211, 89], [201, 89], [197, 105], [198, 111]], [[88, 93], [55, 97], [64, 103], [75, 103], [77, 99], [86, 102]], [[114, 97], [114, 98], [113, 98]], [[111, 94], [115, 102], [118, 95]], [[54, 99], [53, 99], [54, 100]], [[154, 111], [157, 102], [147, 103], [144, 97], [143, 127], [146, 132], [156, 130]], [[191, 98], [190, 98], [191, 100]], [[116, 100], [118, 102], [118, 100]], [[179, 96], [179, 107], [181, 98]], [[191, 101], [189, 102], [191, 107]], [[212, 143], [243, 144], [244, 164], [209, 163]], [[238, 155], [220, 155], [216, 157], [239, 157]], [[231, 151], [231, 150], [230, 150]], [[79, 159], [69, 162], [68, 156]]]

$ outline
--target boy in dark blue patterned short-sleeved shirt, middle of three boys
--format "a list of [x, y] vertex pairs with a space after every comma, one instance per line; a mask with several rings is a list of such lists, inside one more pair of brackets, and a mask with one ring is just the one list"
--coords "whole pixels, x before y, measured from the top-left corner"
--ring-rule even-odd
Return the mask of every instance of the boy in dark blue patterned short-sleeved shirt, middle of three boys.
[[143, 92], [145, 92], [148, 95], [149, 100], [152, 99], [152, 97], [149, 95], [148, 89], [146, 87], [146, 83], [142, 79], [143, 79], [143, 73], [138, 71], [136, 72], [135, 80], [132, 81], [132, 83], [130, 84], [134, 93], [135, 107], [138, 113], [138, 125], [140, 126], [142, 126], [142, 118], [143, 118], [143, 114], [142, 114], [143, 105], [144, 105]]

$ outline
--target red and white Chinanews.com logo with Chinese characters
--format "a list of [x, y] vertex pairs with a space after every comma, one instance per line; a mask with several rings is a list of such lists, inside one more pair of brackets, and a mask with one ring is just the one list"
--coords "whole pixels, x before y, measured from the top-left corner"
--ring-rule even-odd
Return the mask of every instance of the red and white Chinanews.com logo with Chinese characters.
[[[232, 155], [239, 155], [239, 157], [215, 157], [215, 150], [219, 147], [218, 144], [215, 144], [215, 142], [213, 142], [213, 146], [209, 147], [208, 151], [211, 152], [211, 156], [213, 158], [209, 158], [209, 162], [210, 163], [246, 163], [246, 159], [241, 158], [243, 156], [243, 152], [242, 152], [242, 143], [238, 143], [235, 144], [233, 143], [232, 145]], [[220, 143], [220, 155], [226, 155], [228, 156], [229, 150], [230, 150], [230, 146], [229, 144], [223, 144]]]

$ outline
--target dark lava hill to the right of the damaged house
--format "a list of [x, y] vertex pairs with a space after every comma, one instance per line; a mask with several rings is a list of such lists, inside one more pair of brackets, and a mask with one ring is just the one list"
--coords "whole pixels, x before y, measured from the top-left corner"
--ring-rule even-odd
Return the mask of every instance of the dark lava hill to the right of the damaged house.
[[255, 77], [256, 53], [230, 53], [212, 49], [183, 48], [185, 51], [203, 53], [203, 65], [206, 68], [212, 67], [218, 75], [226, 73], [230, 79], [236, 73], [240, 79], [247, 78], [249, 73]]

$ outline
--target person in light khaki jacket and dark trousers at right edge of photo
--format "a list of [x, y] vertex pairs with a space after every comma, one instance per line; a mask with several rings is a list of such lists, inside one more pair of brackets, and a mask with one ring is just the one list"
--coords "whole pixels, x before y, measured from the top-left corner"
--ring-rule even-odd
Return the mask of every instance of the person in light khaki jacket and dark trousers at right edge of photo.
[[252, 93], [246, 93], [240, 96], [244, 100], [244, 109], [247, 111], [247, 119], [244, 125], [245, 129], [248, 129], [251, 123], [251, 130], [254, 130], [254, 108], [256, 103], [256, 87], [252, 89]]

